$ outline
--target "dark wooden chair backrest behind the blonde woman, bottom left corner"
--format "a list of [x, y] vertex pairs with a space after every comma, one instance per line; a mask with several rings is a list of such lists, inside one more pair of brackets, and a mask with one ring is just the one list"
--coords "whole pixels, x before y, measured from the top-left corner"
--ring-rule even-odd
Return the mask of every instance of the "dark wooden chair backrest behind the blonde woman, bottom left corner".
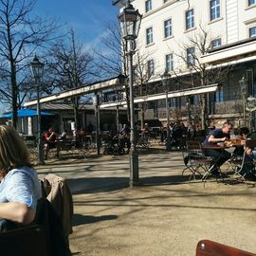
[[48, 256], [46, 232], [33, 225], [0, 233], [1, 256]]

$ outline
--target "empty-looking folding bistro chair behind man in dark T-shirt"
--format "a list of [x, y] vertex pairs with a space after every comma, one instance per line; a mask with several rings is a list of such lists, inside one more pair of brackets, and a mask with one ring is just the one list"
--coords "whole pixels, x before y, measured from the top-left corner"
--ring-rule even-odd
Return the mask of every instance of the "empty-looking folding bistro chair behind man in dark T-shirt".
[[212, 162], [212, 158], [204, 154], [201, 143], [199, 141], [187, 141], [187, 152], [183, 153], [183, 160], [186, 167], [182, 171], [182, 175], [189, 170], [189, 182], [196, 179], [196, 174], [202, 176], [208, 171], [208, 167]]

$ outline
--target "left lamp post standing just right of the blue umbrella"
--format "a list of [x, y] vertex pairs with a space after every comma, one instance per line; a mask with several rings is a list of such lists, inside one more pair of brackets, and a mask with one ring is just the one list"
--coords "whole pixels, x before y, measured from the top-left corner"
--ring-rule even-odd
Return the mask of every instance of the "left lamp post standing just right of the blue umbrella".
[[36, 82], [36, 93], [37, 93], [37, 136], [38, 136], [38, 164], [44, 164], [44, 149], [42, 144], [42, 127], [41, 127], [41, 110], [40, 110], [40, 97], [39, 97], [39, 85], [40, 79], [43, 76], [44, 64], [41, 63], [35, 55], [33, 61], [30, 63], [30, 70], [32, 77]]

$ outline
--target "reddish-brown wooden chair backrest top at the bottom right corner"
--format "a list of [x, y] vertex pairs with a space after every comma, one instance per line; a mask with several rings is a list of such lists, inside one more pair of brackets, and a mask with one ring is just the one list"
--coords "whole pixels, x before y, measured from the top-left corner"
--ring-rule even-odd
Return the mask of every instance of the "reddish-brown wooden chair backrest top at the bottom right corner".
[[229, 247], [210, 240], [201, 240], [196, 247], [196, 256], [255, 256], [251, 252]]

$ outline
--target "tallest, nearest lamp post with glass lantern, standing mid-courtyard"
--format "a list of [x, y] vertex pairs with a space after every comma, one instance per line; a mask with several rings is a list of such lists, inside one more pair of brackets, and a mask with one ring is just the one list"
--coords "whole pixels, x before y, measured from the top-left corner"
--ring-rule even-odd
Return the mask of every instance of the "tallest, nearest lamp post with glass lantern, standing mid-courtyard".
[[134, 9], [130, 1], [119, 13], [119, 23], [122, 38], [128, 43], [129, 61], [129, 88], [130, 88], [130, 128], [131, 128], [131, 151], [130, 151], [130, 186], [133, 187], [138, 182], [138, 159], [135, 142], [135, 109], [134, 109], [134, 88], [133, 88], [133, 55], [135, 50], [135, 40], [137, 39], [142, 15]]

